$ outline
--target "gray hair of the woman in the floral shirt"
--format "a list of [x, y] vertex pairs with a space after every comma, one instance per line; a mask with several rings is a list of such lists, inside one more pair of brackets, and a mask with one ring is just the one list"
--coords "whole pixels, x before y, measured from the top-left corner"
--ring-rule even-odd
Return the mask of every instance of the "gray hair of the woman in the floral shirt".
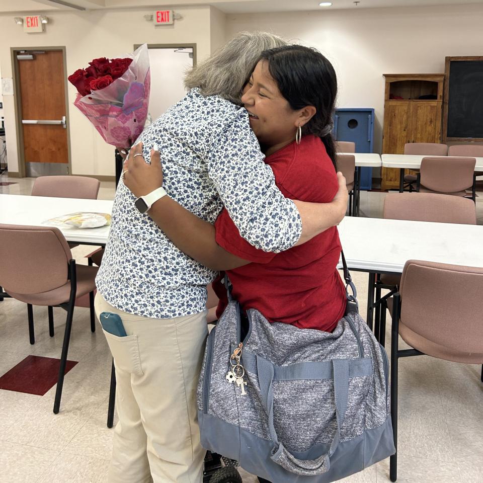
[[281, 37], [269, 32], [239, 32], [186, 74], [185, 87], [199, 87], [203, 96], [218, 95], [240, 104], [241, 90], [260, 54], [286, 44]]

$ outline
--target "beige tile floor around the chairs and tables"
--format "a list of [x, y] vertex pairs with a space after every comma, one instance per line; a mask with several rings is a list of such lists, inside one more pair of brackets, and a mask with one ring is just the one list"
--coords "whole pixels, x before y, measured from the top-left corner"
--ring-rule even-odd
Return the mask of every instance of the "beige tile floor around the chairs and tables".
[[[18, 182], [0, 186], [0, 193], [13, 194], [30, 194], [33, 183], [6, 176], [0, 181]], [[102, 183], [100, 198], [112, 199], [113, 194], [113, 183]], [[384, 196], [363, 192], [364, 215], [380, 217]], [[483, 224], [482, 198], [476, 206], [478, 223]], [[85, 263], [83, 257], [90, 251], [92, 247], [78, 247], [73, 255]], [[367, 274], [354, 272], [353, 278], [365, 314]], [[25, 304], [0, 302], [0, 375], [29, 354], [60, 356], [65, 312], [54, 308], [54, 338], [48, 335], [47, 310], [34, 307], [34, 317], [36, 343], [31, 346]], [[386, 341], [389, 330], [390, 317]], [[44, 396], [0, 390], [0, 482], [106, 481], [112, 437], [106, 427], [111, 357], [102, 332], [91, 333], [86, 308], [75, 310], [69, 358], [79, 363], [65, 378], [58, 415], [52, 413], [55, 386]], [[481, 366], [425, 356], [401, 359], [399, 366], [398, 481], [483, 483]], [[240, 472], [244, 483], [256, 482]], [[385, 460], [343, 481], [380, 483], [389, 481], [388, 474]]]

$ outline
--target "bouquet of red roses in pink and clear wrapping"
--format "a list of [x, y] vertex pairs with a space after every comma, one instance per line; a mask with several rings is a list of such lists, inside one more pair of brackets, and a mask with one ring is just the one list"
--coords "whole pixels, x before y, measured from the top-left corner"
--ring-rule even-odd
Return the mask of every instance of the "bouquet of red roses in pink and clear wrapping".
[[101, 57], [68, 76], [77, 89], [74, 105], [108, 144], [130, 147], [141, 134], [149, 103], [147, 45], [120, 59]]

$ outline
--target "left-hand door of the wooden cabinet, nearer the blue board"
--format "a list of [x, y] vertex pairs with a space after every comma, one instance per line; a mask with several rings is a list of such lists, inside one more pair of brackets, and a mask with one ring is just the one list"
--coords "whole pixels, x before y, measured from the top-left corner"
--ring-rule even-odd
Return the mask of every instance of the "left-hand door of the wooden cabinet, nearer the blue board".
[[[404, 145], [411, 140], [412, 122], [412, 101], [387, 101], [384, 104], [383, 154], [404, 153]], [[382, 168], [381, 178], [383, 190], [399, 187], [398, 169]]]

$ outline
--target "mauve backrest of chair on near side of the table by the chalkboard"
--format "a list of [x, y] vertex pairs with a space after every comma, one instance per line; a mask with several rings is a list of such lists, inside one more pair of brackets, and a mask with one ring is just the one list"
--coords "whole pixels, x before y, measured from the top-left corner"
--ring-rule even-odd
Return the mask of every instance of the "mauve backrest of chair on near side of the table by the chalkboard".
[[423, 157], [421, 184], [440, 193], [456, 193], [473, 186], [474, 157]]

